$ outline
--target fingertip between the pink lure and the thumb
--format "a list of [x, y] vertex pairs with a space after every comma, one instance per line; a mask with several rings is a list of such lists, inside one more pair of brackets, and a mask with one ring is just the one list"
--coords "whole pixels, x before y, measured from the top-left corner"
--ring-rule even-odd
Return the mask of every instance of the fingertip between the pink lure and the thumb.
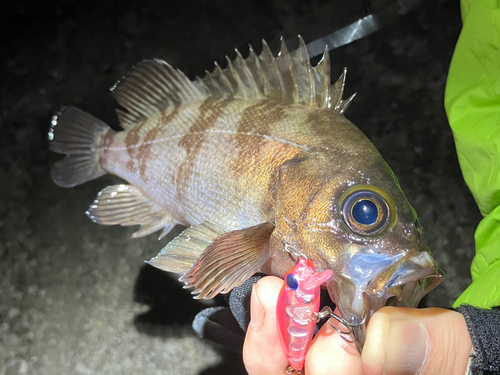
[[[335, 314], [339, 314], [337, 309]], [[361, 354], [356, 349], [356, 345], [344, 340], [332, 326], [341, 331], [346, 330], [346, 327], [333, 318], [323, 324], [307, 352], [305, 373], [307, 375], [362, 375]]]

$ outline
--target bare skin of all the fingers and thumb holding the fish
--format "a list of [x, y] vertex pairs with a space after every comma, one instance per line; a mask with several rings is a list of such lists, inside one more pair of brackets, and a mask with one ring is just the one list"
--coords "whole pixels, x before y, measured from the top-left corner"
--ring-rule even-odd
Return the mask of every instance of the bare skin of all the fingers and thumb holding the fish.
[[[283, 285], [264, 277], [252, 290], [251, 322], [243, 347], [249, 375], [283, 375], [288, 366], [276, 322]], [[338, 324], [330, 319], [333, 325]], [[324, 324], [306, 356], [306, 375], [465, 374], [472, 342], [462, 314], [428, 308], [384, 307], [368, 323], [363, 354]]]

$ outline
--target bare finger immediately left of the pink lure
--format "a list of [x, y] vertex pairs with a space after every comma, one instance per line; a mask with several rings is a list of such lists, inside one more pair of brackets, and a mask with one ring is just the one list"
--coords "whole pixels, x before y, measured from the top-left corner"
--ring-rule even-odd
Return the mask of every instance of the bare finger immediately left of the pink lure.
[[283, 375], [288, 366], [276, 322], [282, 285], [282, 279], [269, 276], [253, 286], [250, 325], [243, 345], [243, 362], [249, 375]]

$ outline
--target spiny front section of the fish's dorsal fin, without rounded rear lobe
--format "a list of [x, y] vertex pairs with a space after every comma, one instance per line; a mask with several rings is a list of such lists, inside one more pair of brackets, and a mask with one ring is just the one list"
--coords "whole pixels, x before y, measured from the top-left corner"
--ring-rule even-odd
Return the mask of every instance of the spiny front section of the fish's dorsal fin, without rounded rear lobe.
[[226, 69], [216, 63], [212, 73], [197, 78], [198, 87], [207, 95], [238, 98], [269, 98], [319, 108], [331, 108], [342, 114], [354, 95], [343, 100], [344, 69], [335, 84], [330, 84], [330, 59], [325, 48], [317, 66], [311, 65], [306, 44], [299, 36], [299, 48], [290, 53], [281, 39], [281, 49], [274, 57], [265, 41], [257, 56], [250, 46], [244, 59], [236, 50], [236, 59], [228, 60]]

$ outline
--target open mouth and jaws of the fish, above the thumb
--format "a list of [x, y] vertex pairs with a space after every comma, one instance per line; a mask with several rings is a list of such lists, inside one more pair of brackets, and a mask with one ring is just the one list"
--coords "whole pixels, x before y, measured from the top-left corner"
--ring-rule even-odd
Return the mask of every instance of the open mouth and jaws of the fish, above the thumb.
[[417, 307], [420, 300], [443, 281], [444, 274], [430, 253], [415, 253], [383, 269], [363, 284], [353, 284], [353, 280], [348, 280], [351, 287], [345, 288], [347, 283], [336, 283], [334, 278], [327, 282], [330, 298], [337, 304], [342, 317], [351, 324], [360, 353], [368, 322], [375, 312], [384, 306]]

